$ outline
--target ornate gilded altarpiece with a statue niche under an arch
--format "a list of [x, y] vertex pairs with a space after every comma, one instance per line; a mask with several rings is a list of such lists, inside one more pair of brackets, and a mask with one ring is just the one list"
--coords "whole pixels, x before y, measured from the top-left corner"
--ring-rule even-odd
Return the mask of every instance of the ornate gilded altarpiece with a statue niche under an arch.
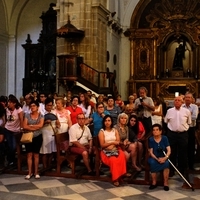
[[146, 86], [152, 97], [198, 96], [200, 1], [141, 0], [126, 36], [131, 42], [129, 94]]

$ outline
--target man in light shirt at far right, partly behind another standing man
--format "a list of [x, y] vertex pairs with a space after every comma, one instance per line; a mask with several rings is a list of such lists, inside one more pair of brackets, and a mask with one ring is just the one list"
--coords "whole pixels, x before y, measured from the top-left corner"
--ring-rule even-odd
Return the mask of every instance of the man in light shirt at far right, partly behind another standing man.
[[185, 94], [184, 108], [187, 108], [191, 113], [192, 123], [188, 129], [188, 167], [190, 170], [194, 170], [194, 159], [195, 159], [195, 127], [196, 119], [198, 116], [199, 108], [197, 105], [192, 103], [193, 95], [187, 92]]

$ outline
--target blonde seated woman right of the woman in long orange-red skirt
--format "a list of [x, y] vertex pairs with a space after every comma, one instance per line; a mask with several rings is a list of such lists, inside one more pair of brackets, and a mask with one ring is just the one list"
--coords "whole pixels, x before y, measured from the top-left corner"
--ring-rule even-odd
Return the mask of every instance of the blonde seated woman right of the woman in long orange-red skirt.
[[[121, 113], [118, 115], [117, 124], [114, 128], [117, 129], [120, 136], [120, 146], [124, 151], [126, 156], [126, 161], [131, 158], [132, 167], [136, 171], [141, 171], [141, 168], [137, 166], [137, 143], [135, 141], [130, 142], [129, 138], [129, 128], [127, 126], [128, 123], [128, 115], [125, 113]], [[128, 176], [128, 174], [127, 174]]]

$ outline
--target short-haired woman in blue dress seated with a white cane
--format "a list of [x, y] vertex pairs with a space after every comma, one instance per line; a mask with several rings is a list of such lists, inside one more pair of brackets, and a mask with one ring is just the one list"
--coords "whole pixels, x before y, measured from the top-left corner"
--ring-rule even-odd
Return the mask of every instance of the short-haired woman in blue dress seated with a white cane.
[[[149, 138], [149, 154], [150, 158], [148, 162], [150, 164], [150, 171], [152, 177], [152, 184], [149, 189], [153, 190], [156, 185], [156, 173], [163, 170], [164, 177], [164, 190], [168, 191], [168, 178], [169, 178], [169, 155], [171, 148], [166, 136], [162, 135], [162, 126], [160, 124], [154, 124], [152, 126], [153, 136]], [[166, 156], [163, 154], [166, 152]]]

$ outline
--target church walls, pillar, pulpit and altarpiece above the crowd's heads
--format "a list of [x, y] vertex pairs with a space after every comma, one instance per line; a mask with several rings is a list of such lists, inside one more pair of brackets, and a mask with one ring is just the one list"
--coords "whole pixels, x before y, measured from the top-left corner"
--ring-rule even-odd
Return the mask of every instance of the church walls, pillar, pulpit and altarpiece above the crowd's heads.
[[145, 86], [199, 96], [198, 0], [0, 4], [2, 95], [88, 89], [127, 100]]

